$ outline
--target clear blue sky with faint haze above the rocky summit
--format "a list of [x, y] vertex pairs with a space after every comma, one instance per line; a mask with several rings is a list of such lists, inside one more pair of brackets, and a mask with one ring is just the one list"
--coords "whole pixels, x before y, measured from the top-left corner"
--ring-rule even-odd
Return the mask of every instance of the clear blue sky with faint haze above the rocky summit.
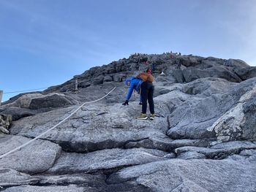
[[0, 0], [0, 90], [59, 85], [131, 53], [256, 66], [255, 12], [255, 0]]

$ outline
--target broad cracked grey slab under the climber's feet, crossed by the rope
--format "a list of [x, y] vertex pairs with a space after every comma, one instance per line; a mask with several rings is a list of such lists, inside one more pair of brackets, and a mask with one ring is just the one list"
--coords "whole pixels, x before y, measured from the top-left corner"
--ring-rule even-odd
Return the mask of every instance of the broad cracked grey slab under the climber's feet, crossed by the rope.
[[[157, 107], [156, 100], [156, 107]], [[167, 119], [162, 115], [169, 111], [164, 104], [159, 104], [157, 117], [150, 120], [136, 120], [140, 114], [138, 103], [129, 107], [114, 104], [106, 107], [103, 104], [91, 104], [83, 107], [77, 114], [67, 120], [59, 128], [50, 131], [43, 139], [59, 143], [66, 151], [91, 152], [113, 147], [124, 147], [128, 142], [138, 142], [143, 139], [163, 138], [171, 141], [165, 135]], [[40, 132], [53, 127], [74, 110], [75, 107], [55, 110], [41, 115], [23, 118], [13, 123], [12, 134], [26, 137], [36, 137]], [[162, 141], [164, 142], [164, 141]], [[152, 144], [154, 145], [154, 143]], [[159, 145], [155, 143], [155, 145]]]

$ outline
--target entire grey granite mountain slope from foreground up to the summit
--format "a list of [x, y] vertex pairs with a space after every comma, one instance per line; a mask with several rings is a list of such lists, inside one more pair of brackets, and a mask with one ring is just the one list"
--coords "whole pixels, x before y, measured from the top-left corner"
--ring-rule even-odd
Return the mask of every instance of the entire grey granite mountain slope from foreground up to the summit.
[[[121, 104], [124, 80], [148, 68], [155, 118], [137, 120], [139, 95]], [[256, 191], [255, 72], [236, 59], [134, 54], [15, 96], [0, 107], [12, 116], [1, 121], [0, 191]]]

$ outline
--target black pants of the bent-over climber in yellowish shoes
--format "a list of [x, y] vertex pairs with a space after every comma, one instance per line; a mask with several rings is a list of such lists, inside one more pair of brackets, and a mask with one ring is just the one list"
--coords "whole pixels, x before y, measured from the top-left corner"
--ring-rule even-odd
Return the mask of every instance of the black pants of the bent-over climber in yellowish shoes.
[[143, 82], [140, 85], [141, 99], [142, 99], [142, 113], [147, 112], [147, 100], [149, 104], [149, 110], [151, 114], [154, 114], [154, 85], [151, 82]]

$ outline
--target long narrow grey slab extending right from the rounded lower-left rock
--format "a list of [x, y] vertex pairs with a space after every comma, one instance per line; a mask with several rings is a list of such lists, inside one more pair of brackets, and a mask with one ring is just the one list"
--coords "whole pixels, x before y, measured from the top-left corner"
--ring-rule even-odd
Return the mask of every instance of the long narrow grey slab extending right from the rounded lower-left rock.
[[48, 170], [50, 174], [72, 174], [108, 171], [126, 166], [146, 164], [152, 161], [164, 161], [167, 153], [151, 149], [108, 149], [96, 152], [62, 153], [56, 164]]

